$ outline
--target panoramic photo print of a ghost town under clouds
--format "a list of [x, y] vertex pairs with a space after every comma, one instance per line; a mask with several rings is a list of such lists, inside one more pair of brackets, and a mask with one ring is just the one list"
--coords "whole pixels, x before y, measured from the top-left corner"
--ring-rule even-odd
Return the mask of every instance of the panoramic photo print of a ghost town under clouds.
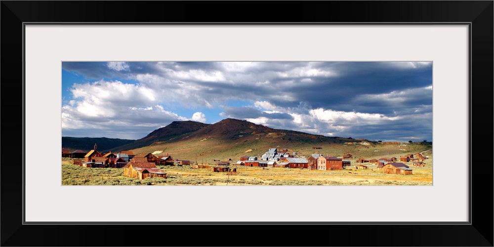
[[62, 185], [432, 185], [432, 62], [62, 62]]

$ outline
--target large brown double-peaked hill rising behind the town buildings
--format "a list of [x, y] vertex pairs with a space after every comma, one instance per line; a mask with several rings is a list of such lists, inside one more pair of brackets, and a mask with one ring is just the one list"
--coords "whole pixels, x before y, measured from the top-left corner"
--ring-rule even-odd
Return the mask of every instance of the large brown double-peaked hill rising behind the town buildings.
[[[237, 160], [245, 155], [260, 156], [274, 147], [280, 150], [287, 148], [290, 152], [297, 152], [299, 155], [318, 152], [342, 156], [359, 149], [368, 152], [369, 149], [366, 148], [374, 144], [375, 141], [366, 139], [328, 137], [274, 129], [244, 120], [225, 119], [215, 124], [193, 121], [173, 122], [142, 139], [115, 148], [114, 152], [132, 150], [135, 154], [147, 154], [163, 151], [175, 159], [190, 161], [200, 159], [206, 162], [206, 160]], [[318, 149], [314, 149], [315, 147]]]

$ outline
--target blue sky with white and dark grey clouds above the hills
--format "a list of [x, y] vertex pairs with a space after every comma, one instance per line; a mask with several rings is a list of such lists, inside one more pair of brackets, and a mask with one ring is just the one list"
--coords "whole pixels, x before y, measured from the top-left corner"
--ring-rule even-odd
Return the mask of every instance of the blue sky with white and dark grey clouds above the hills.
[[432, 141], [432, 63], [62, 63], [62, 136], [140, 139], [172, 121], [226, 118]]

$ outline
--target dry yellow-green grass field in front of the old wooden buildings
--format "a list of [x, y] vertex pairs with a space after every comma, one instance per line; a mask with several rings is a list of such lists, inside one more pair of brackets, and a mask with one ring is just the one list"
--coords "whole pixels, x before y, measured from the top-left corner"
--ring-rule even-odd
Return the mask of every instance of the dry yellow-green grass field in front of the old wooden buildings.
[[[395, 146], [396, 148], [396, 146]], [[355, 150], [354, 150], [355, 151]], [[367, 151], [367, 150], [365, 150]], [[366, 159], [379, 158], [380, 155]], [[412, 153], [404, 151], [401, 155]], [[370, 154], [370, 153], [369, 153]], [[411, 175], [384, 174], [377, 165], [365, 163], [369, 169], [356, 169], [354, 166], [342, 170], [308, 170], [279, 167], [237, 168], [235, 175], [225, 172], [212, 172], [212, 168], [194, 169], [184, 166], [159, 166], [168, 175], [163, 178], [139, 180], [123, 176], [123, 168], [86, 168], [72, 165], [68, 158], [62, 160], [62, 185], [432, 185], [432, 152], [423, 153], [429, 159], [425, 166], [412, 166]], [[400, 153], [393, 156], [399, 158]], [[357, 165], [357, 159], [351, 159]]]

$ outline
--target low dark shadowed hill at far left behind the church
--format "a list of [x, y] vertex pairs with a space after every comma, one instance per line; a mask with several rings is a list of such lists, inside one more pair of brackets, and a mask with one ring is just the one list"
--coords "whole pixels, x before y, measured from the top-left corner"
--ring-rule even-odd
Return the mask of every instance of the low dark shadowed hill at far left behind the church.
[[131, 143], [135, 140], [118, 139], [118, 138], [106, 138], [106, 137], [64, 137], [62, 136], [62, 147], [68, 148], [71, 152], [80, 149], [82, 151], [89, 151], [93, 149], [94, 144], [98, 145], [99, 151], [112, 150], [115, 147]]

